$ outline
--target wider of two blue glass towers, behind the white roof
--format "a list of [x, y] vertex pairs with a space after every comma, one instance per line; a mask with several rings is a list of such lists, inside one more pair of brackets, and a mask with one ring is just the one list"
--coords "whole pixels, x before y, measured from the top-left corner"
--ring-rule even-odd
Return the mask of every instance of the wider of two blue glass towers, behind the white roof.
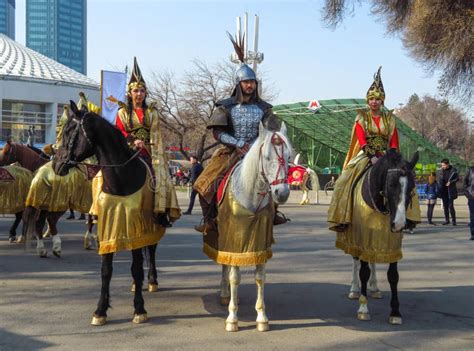
[[86, 74], [87, 0], [26, 0], [26, 46]]

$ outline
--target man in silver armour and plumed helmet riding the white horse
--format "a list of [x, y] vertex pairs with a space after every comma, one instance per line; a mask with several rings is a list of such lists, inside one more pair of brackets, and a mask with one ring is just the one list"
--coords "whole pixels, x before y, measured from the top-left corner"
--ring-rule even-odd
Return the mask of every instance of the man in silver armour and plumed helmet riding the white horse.
[[[239, 55], [240, 57], [242, 64], [235, 72], [234, 91], [228, 99], [217, 103], [207, 126], [222, 146], [214, 152], [207, 167], [194, 183], [194, 189], [200, 195], [204, 216], [204, 224], [195, 229], [204, 233], [216, 229], [216, 193], [220, 181], [257, 139], [259, 124], [262, 123], [271, 131], [280, 130], [272, 105], [263, 101], [258, 94], [255, 72], [244, 63], [243, 55]], [[275, 217], [275, 224], [285, 222], [284, 216]]]

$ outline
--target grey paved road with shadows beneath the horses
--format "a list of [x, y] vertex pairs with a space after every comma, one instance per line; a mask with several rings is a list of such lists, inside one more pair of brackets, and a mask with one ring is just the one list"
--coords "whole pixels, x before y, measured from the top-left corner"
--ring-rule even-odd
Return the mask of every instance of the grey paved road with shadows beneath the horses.
[[[421, 225], [405, 236], [399, 265], [404, 324], [392, 326], [385, 267], [379, 266], [384, 298], [370, 300], [372, 321], [357, 321], [357, 302], [345, 297], [351, 259], [334, 248], [334, 235], [326, 229], [328, 199], [301, 207], [298, 195], [282, 207], [292, 222], [277, 228], [267, 265], [268, 333], [255, 330], [250, 269], [243, 270], [239, 290], [241, 330], [224, 331], [226, 309], [217, 300], [220, 269], [203, 255], [201, 237], [191, 229], [199, 213], [184, 216], [159, 245], [160, 290], [145, 293], [147, 324], [130, 322], [131, 257], [116, 256], [113, 308], [103, 327], [89, 325], [100, 260], [81, 248], [83, 223], [62, 220], [63, 257], [40, 259], [6, 242], [10, 218], [0, 217], [0, 350], [474, 349], [474, 241], [467, 240], [464, 198], [458, 201], [457, 227]], [[435, 216], [441, 222], [438, 207]]]

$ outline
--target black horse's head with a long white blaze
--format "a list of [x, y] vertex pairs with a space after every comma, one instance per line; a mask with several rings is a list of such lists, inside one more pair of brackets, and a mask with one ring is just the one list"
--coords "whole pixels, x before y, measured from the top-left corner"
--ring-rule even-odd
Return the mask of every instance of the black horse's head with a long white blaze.
[[[396, 150], [389, 150], [374, 166], [375, 178], [381, 179], [381, 195], [390, 214], [393, 232], [401, 231], [406, 225], [406, 210], [410, 205], [415, 174], [413, 169], [418, 161], [418, 151], [410, 161], [404, 160]], [[379, 176], [377, 176], [379, 174]]]

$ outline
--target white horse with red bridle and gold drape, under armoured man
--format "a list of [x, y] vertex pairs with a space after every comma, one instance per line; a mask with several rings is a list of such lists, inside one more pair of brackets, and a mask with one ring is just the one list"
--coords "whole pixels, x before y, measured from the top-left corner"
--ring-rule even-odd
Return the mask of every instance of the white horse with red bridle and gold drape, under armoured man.
[[[282, 125], [279, 132], [270, 132], [260, 124], [259, 137], [250, 148], [242, 162], [235, 167], [225, 196], [231, 196], [232, 208], [240, 208], [231, 213], [226, 220], [219, 221], [219, 249], [214, 254], [205, 252], [210, 258], [222, 264], [222, 281], [220, 298], [222, 304], [229, 304], [229, 315], [225, 322], [225, 330], [238, 330], [238, 286], [240, 283], [240, 266], [255, 265], [255, 282], [257, 284], [257, 330], [269, 330], [268, 317], [265, 313], [264, 284], [265, 284], [265, 263], [272, 256], [271, 244], [273, 241], [273, 203], [282, 204], [288, 200], [290, 188], [286, 181], [288, 176], [288, 161], [291, 154], [291, 147], [286, 136], [286, 126]], [[224, 200], [225, 201], [225, 200]], [[222, 206], [219, 208], [221, 210]], [[269, 209], [268, 212], [267, 209]], [[228, 223], [239, 221], [240, 217], [231, 218], [234, 213], [244, 213], [250, 218], [244, 227], [248, 230], [232, 230]], [[265, 217], [266, 214], [270, 215]], [[223, 215], [223, 213], [219, 213]], [[263, 216], [263, 217], [261, 217]], [[269, 218], [268, 218], [269, 217]], [[238, 218], [238, 219], [237, 219]], [[264, 222], [261, 222], [263, 218]], [[224, 218], [222, 218], [224, 219]], [[264, 223], [264, 225], [262, 225]], [[265, 230], [257, 230], [266, 228]], [[235, 240], [236, 236], [243, 242], [242, 247], [247, 250], [252, 247], [254, 241], [260, 242], [265, 247], [262, 249], [253, 246], [246, 252], [226, 251], [226, 242], [230, 238]], [[263, 236], [263, 237], [262, 237]], [[248, 240], [252, 237], [252, 240]], [[227, 239], [227, 240], [225, 240]], [[221, 241], [222, 240], [222, 241]], [[221, 243], [223, 243], [221, 245]], [[256, 244], [259, 245], [259, 244]]]

